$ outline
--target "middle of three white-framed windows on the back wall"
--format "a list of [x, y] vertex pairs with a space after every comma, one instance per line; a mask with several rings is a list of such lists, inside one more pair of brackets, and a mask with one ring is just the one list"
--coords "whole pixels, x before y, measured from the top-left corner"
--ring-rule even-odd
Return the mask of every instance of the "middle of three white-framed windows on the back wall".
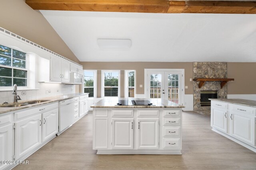
[[120, 96], [120, 70], [102, 70], [102, 97]]

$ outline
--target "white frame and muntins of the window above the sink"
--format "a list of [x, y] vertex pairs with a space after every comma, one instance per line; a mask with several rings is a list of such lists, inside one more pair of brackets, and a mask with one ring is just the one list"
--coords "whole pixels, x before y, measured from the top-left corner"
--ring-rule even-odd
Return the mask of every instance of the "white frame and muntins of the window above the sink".
[[[3, 45], [3, 44], [1, 44]], [[5, 47], [8, 47], [6, 45], [3, 45]], [[7, 65], [3, 65], [3, 64], [0, 64], [0, 67], [4, 67], [4, 68], [11, 68], [12, 69], [12, 77], [7, 77], [7, 76], [1, 76], [1, 77], [6, 77], [6, 78], [12, 78], [12, 86], [0, 86], [0, 91], [9, 91], [9, 90], [12, 90], [13, 89], [13, 78], [17, 78], [17, 77], [14, 77], [13, 76], [13, 69], [16, 69], [16, 70], [23, 70], [23, 71], [26, 71], [27, 72], [27, 77], [26, 78], [20, 78], [20, 79], [26, 79], [26, 86], [17, 86], [19, 88], [19, 90], [29, 90], [29, 83], [30, 83], [30, 61], [29, 61], [29, 53], [26, 53], [25, 51], [23, 51], [22, 49], [19, 49], [18, 47], [8, 47], [11, 49], [11, 56], [7, 56], [7, 55], [3, 55], [1, 54], [2, 56], [4, 57], [10, 57], [11, 58], [11, 66], [7, 66]], [[23, 60], [23, 59], [18, 59], [18, 58], [15, 58], [13, 57], [13, 49], [14, 50], [17, 50], [17, 51], [21, 51], [23, 53], [26, 53], [26, 59]], [[25, 61], [25, 64], [26, 64], [26, 67], [25, 68], [21, 68], [21, 67], [16, 67], [16, 66], [12, 66], [13, 64], [13, 59], [18, 59], [18, 60], [22, 60], [22, 61]]]

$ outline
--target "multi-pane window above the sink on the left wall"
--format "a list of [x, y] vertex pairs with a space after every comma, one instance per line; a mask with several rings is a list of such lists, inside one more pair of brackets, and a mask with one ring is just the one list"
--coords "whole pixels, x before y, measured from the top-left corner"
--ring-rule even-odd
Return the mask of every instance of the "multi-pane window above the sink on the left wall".
[[0, 86], [27, 86], [26, 53], [0, 45]]

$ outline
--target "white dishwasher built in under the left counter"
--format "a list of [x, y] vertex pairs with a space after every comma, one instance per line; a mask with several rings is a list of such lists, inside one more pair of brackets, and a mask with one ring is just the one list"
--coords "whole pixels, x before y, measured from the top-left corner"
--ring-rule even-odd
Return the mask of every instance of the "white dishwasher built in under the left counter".
[[75, 102], [75, 100], [73, 98], [59, 102], [59, 132], [58, 132], [58, 135], [60, 135], [60, 133], [62, 133], [66, 129], [68, 129], [68, 127], [70, 127], [75, 121], [74, 102]]

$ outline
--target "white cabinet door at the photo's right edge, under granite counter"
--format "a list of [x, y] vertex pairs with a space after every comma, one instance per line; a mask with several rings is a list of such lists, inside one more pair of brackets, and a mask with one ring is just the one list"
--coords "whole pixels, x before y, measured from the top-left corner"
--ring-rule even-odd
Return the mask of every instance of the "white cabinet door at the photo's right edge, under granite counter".
[[231, 135], [255, 146], [255, 117], [243, 113], [232, 112], [230, 119]]

